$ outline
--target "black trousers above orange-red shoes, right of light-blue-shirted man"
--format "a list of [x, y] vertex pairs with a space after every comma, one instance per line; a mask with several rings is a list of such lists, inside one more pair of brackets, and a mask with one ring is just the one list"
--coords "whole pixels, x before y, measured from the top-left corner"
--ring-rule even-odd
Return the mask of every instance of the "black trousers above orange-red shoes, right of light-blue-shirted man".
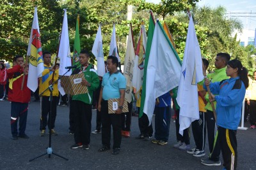
[[122, 113], [122, 131], [131, 131], [132, 102], [127, 104], [129, 112]]

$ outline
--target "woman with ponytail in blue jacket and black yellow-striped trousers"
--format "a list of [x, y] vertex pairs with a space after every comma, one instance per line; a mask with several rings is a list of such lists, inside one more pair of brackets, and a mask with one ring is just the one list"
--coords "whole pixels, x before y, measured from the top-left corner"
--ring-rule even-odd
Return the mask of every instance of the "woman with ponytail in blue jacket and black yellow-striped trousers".
[[241, 119], [242, 104], [245, 90], [248, 87], [247, 69], [237, 59], [227, 63], [228, 80], [210, 83], [205, 80], [204, 88], [209, 85], [212, 94], [211, 101], [216, 101], [218, 136], [220, 139], [224, 169], [237, 167], [236, 131]]

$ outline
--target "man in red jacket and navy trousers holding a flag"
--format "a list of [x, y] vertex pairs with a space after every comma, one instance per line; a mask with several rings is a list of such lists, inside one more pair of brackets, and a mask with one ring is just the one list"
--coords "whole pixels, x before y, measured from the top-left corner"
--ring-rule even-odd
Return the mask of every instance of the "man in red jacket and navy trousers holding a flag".
[[[8, 78], [10, 78], [8, 101], [11, 102], [12, 139], [18, 139], [18, 137], [28, 139], [29, 137], [25, 133], [28, 115], [28, 103], [31, 97], [31, 91], [27, 87], [28, 66], [26, 63], [24, 63], [22, 55], [16, 55], [14, 58], [14, 63], [15, 66], [6, 71]], [[21, 89], [24, 76], [24, 84], [23, 88]], [[19, 131], [17, 129], [18, 120]]]

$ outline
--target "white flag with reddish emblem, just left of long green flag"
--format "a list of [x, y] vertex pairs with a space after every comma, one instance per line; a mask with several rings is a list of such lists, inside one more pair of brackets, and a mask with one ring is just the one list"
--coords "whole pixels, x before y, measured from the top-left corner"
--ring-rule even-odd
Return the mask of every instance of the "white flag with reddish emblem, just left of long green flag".
[[146, 47], [147, 47], [147, 34], [146, 34], [144, 23], [142, 22], [140, 27], [140, 38], [138, 40], [138, 45], [136, 47], [136, 52], [135, 52], [135, 60], [134, 60], [133, 76], [132, 76], [132, 87], [136, 89], [135, 95], [137, 96], [137, 98], [140, 97], [140, 89], [143, 81]]

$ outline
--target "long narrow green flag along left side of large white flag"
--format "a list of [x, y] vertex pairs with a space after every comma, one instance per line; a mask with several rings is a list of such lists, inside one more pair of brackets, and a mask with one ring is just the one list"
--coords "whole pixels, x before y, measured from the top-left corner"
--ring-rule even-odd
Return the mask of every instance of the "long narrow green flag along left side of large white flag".
[[150, 54], [150, 48], [152, 44], [154, 29], [155, 29], [155, 21], [154, 21], [153, 13], [152, 11], [150, 11], [150, 18], [149, 18], [149, 25], [148, 25], [148, 39], [147, 39], [148, 41], [147, 41], [147, 48], [145, 53], [144, 74], [143, 74], [143, 83], [142, 83], [142, 90], [141, 90], [141, 104], [140, 104], [140, 115], [139, 115], [140, 118], [143, 115], [143, 109], [145, 104], [148, 57]]

